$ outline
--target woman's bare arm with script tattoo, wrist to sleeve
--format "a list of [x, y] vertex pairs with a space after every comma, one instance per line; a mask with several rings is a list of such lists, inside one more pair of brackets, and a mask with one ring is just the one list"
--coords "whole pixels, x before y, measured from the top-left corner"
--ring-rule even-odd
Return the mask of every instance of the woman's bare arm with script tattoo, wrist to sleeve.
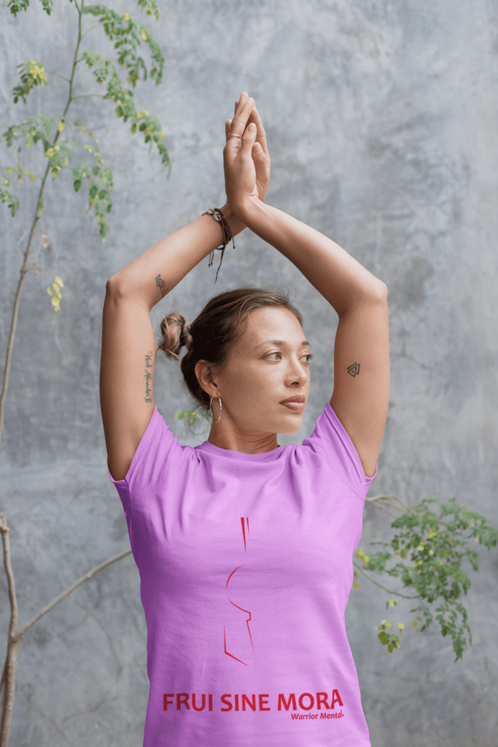
[[[234, 236], [246, 227], [228, 205], [220, 209]], [[149, 311], [220, 244], [220, 223], [203, 215], [147, 249], [105, 286], [100, 408], [114, 480], [124, 480], [154, 413], [155, 335]]]

